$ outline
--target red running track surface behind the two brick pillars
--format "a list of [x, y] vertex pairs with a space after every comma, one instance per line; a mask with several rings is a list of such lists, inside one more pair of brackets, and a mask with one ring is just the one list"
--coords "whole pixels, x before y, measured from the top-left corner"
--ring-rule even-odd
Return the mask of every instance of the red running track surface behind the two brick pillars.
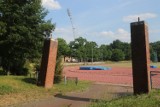
[[[160, 69], [151, 69], [151, 71]], [[78, 77], [79, 80], [133, 86], [132, 68], [113, 67], [111, 70], [79, 70], [79, 66], [64, 67], [63, 74], [67, 77]], [[154, 77], [154, 76], [153, 76]], [[156, 76], [155, 76], [156, 77]], [[160, 78], [155, 79], [160, 86]]]

